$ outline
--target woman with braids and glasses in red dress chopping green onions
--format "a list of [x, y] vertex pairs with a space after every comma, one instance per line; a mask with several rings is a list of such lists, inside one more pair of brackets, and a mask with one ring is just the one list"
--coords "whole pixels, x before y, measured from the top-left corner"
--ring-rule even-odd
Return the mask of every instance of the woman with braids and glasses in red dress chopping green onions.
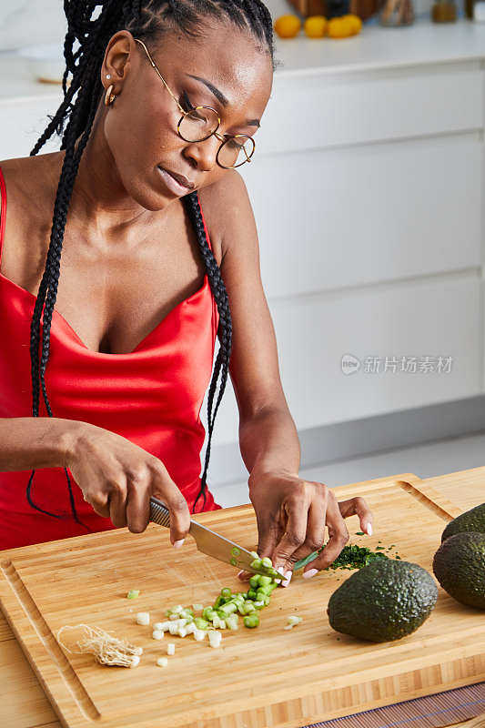
[[[180, 546], [191, 512], [220, 508], [206, 475], [230, 358], [258, 552], [287, 585], [327, 524], [312, 576], [348, 541], [344, 519], [357, 513], [370, 533], [372, 514], [362, 498], [338, 503], [323, 483], [298, 478], [237, 172], [252, 161], [271, 92], [268, 9], [259, 0], [65, 8], [65, 100], [31, 156], [0, 166], [0, 547], [126, 525], [139, 533], [150, 495], [167, 503]], [[61, 151], [36, 156], [55, 131]]]

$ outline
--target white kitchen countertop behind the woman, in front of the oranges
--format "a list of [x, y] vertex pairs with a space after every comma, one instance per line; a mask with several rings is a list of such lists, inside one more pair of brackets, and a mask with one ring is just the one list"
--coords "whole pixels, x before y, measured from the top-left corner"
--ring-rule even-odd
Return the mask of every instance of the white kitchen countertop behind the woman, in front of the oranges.
[[[375, 22], [350, 38], [279, 38], [275, 56], [283, 65], [275, 76], [340, 74], [423, 64], [485, 59], [485, 23], [460, 19], [435, 24], [420, 18], [414, 25], [387, 28]], [[12, 53], [0, 53], [0, 101], [52, 97], [61, 87], [32, 77], [27, 61]]]

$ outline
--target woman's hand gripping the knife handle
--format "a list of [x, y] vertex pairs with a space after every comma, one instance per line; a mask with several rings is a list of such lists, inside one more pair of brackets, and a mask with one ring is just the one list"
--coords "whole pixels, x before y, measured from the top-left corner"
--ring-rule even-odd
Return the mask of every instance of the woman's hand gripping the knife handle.
[[116, 528], [132, 533], [147, 528], [150, 496], [170, 511], [170, 541], [181, 546], [190, 527], [187, 501], [161, 460], [122, 435], [88, 422], [66, 446], [65, 466], [83, 491], [85, 501]]

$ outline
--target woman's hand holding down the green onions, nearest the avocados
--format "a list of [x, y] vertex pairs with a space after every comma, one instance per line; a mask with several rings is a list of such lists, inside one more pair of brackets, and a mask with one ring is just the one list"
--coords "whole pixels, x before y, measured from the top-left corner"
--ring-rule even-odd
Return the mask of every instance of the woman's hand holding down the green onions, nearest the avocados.
[[[360, 496], [338, 502], [324, 483], [302, 480], [288, 472], [251, 475], [248, 484], [258, 521], [258, 555], [273, 561], [283, 576], [283, 586], [288, 586], [294, 564], [323, 545], [326, 525], [328, 543], [305, 567], [306, 578], [326, 569], [349, 541], [345, 518], [357, 514], [361, 530], [372, 534], [372, 513]], [[239, 575], [243, 581], [250, 576], [248, 571]]]

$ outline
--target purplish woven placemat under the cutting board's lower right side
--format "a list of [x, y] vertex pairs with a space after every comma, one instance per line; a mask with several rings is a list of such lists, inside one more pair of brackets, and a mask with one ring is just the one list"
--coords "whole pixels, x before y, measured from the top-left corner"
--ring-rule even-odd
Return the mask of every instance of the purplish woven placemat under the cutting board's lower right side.
[[476, 682], [444, 693], [311, 723], [306, 728], [440, 728], [482, 713], [485, 728], [485, 682]]

